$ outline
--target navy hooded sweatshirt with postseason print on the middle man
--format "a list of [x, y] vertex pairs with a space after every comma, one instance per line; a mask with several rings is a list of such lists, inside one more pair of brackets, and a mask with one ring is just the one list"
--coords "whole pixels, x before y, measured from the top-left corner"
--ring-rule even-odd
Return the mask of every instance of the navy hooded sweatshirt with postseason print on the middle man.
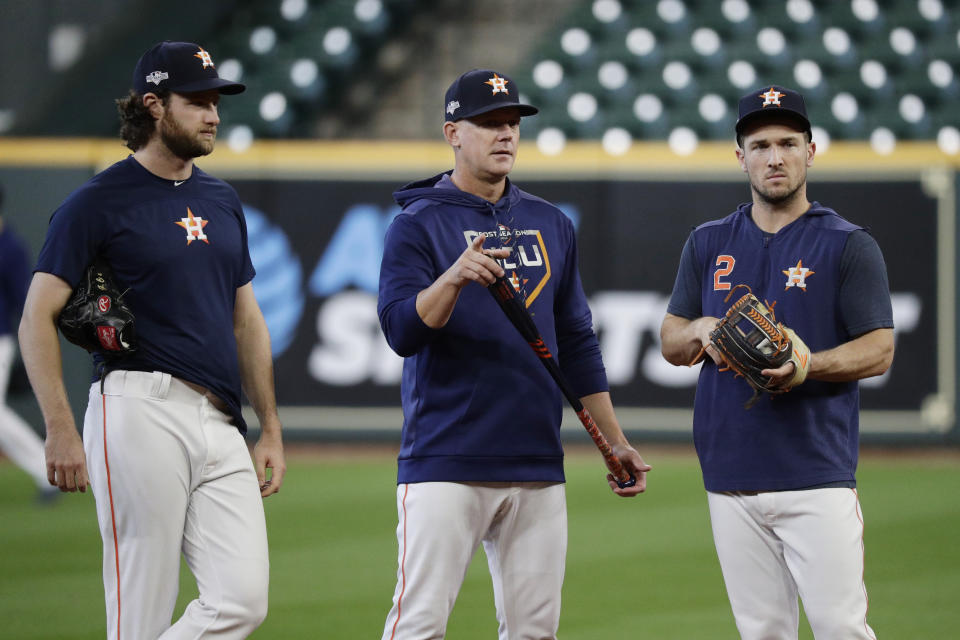
[[416, 299], [478, 234], [486, 248], [512, 246], [500, 263], [575, 392], [606, 391], [573, 224], [509, 180], [494, 204], [449, 173], [394, 194], [403, 211], [384, 242], [377, 312], [404, 357], [398, 482], [562, 482], [560, 391], [490, 293], [467, 284], [440, 329]]

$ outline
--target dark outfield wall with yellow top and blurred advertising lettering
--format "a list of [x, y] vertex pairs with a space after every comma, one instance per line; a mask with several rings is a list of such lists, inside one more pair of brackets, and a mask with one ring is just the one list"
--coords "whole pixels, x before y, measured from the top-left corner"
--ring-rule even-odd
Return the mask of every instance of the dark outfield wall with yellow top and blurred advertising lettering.
[[[36, 252], [56, 205], [124, 155], [114, 141], [0, 139], [7, 218]], [[398, 210], [392, 191], [450, 161], [442, 144], [286, 142], [242, 154], [218, 149], [199, 163], [230, 180], [247, 208], [254, 290], [271, 328], [291, 435], [399, 429], [401, 361], [376, 317], [383, 232]], [[810, 172], [810, 199], [869, 227], [887, 260], [897, 352], [887, 374], [862, 383], [865, 438], [956, 434], [958, 166], [960, 159], [925, 144], [891, 156], [834, 144]], [[690, 156], [637, 145], [616, 158], [590, 143], [560, 156], [528, 145], [513, 178], [577, 226], [584, 287], [624, 427], [687, 437], [697, 370], [662, 359], [658, 330], [691, 227], [749, 199], [732, 144]], [[89, 366], [77, 349], [66, 353], [79, 416]], [[571, 418], [565, 427], [572, 433], [579, 424]]]

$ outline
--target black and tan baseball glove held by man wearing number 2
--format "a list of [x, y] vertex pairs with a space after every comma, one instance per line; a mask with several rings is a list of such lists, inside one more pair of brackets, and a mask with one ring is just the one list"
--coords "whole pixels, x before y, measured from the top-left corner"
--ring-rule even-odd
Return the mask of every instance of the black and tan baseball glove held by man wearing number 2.
[[[761, 392], [785, 393], [801, 384], [810, 368], [807, 345], [792, 329], [777, 322], [772, 304], [760, 302], [752, 292], [734, 302], [720, 318], [710, 333], [710, 344], [723, 360], [724, 367], [720, 371], [733, 371], [753, 387], [753, 397], [747, 402], [747, 409], [753, 406]], [[705, 349], [706, 346], [694, 362]], [[787, 362], [794, 365], [794, 374], [789, 380], [774, 382], [760, 373], [765, 369], [778, 369]]]

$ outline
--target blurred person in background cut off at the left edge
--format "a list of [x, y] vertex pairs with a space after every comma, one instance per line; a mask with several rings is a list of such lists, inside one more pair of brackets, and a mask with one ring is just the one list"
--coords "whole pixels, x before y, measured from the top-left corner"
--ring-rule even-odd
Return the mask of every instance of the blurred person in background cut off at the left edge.
[[[0, 212], [3, 211], [0, 186]], [[7, 405], [10, 372], [17, 357], [13, 327], [20, 321], [23, 301], [30, 285], [30, 250], [3, 217], [0, 217], [0, 450], [30, 474], [37, 485], [37, 501], [46, 503], [58, 495], [47, 483], [43, 441], [23, 418]]]

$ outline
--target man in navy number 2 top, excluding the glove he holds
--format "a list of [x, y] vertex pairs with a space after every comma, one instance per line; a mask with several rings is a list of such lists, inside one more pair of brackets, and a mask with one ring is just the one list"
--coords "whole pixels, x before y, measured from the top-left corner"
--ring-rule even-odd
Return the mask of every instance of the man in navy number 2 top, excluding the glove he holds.
[[[738, 284], [775, 302], [812, 355], [805, 382], [745, 409], [752, 389], [720, 372], [707, 346], [693, 436], [727, 595], [744, 639], [796, 638], [798, 595], [816, 638], [874, 638], [854, 472], [857, 381], [893, 359], [886, 266], [862, 227], [807, 199], [816, 143], [800, 94], [773, 86], [745, 95], [736, 134], [752, 202], [687, 239], [663, 355], [690, 364]], [[793, 372], [788, 362], [764, 375], [788, 381]]]

